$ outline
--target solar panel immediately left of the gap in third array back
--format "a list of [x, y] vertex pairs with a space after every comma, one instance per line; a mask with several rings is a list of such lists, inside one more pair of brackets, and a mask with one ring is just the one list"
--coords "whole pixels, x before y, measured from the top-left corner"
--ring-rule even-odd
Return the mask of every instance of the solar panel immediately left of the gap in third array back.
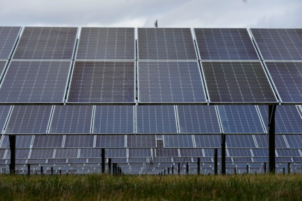
[[128, 135], [127, 148], [156, 148], [154, 135]]

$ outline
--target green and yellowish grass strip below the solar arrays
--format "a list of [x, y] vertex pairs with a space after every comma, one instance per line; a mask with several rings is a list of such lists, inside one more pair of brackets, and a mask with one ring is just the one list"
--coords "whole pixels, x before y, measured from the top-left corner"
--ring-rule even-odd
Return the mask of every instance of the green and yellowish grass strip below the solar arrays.
[[302, 175], [1, 175], [0, 200], [302, 200]]

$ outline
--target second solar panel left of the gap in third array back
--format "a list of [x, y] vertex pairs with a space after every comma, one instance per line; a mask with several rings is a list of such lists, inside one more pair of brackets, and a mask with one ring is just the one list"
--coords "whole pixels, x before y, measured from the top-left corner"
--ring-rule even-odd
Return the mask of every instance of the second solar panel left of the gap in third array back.
[[96, 148], [124, 148], [126, 147], [125, 135], [97, 135]]

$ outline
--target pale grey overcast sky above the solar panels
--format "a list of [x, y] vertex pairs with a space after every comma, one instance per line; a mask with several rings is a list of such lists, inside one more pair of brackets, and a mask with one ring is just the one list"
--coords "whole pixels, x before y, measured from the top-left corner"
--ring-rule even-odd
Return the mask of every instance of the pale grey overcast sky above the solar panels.
[[0, 26], [302, 28], [301, 0], [2, 0]]

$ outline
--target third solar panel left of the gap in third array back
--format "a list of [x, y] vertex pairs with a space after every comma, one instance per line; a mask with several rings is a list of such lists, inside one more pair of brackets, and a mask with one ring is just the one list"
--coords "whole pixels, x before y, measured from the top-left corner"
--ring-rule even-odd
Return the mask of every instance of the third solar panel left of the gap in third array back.
[[66, 135], [64, 148], [93, 148], [93, 135]]

